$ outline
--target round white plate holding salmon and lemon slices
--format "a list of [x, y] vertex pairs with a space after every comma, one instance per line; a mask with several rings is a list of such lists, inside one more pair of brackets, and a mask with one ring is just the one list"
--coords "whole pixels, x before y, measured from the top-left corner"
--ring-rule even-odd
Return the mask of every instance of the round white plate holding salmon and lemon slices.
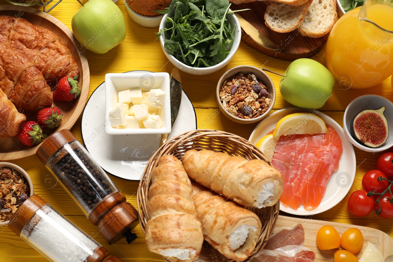
[[306, 211], [303, 208], [303, 205], [300, 205], [298, 210], [280, 205], [280, 211], [294, 215], [306, 216], [327, 211], [343, 200], [345, 195], [349, 192], [349, 189], [351, 189], [351, 185], [355, 178], [356, 157], [352, 144], [348, 141], [342, 127], [338, 125], [336, 121], [321, 112], [317, 112], [316, 110], [298, 107], [281, 109], [269, 115], [255, 127], [248, 140], [255, 145], [261, 137], [266, 136], [269, 131], [274, 129], [275, 125], [281, 118], [298, 112], [314, 113], [321, 117], [327, 126], [332, 126], [336, 130], [343, 145], [343, 154], [340, 158], [338, 169], [332, 174], [331, 178], [327, 182], [325, 195], [323, 196], [319, 207], [312, 211]]

